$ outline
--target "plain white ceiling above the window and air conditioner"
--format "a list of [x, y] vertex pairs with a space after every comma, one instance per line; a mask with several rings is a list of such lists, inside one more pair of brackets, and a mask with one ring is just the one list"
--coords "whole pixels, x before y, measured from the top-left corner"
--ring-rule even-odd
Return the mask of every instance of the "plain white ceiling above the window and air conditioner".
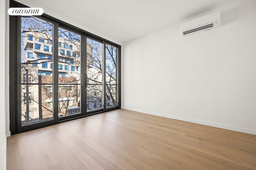
[[89, 29], [86, 31], [94, 30], [124, 43], [162, 27], [209, 12], [234, 0], [17, 1], [30, 7], [41, 7], [46, 14], [58, 14], [69, 21], [84, 25]]

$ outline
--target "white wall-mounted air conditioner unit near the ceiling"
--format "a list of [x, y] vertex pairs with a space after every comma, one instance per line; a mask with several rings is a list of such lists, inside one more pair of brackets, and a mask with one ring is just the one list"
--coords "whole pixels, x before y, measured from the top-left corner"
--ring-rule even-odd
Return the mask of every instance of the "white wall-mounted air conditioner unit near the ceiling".
[[182, 23], [181, 33], [182, 36], [187, 36], [217, 27], [220, 27], [219, 11]]

